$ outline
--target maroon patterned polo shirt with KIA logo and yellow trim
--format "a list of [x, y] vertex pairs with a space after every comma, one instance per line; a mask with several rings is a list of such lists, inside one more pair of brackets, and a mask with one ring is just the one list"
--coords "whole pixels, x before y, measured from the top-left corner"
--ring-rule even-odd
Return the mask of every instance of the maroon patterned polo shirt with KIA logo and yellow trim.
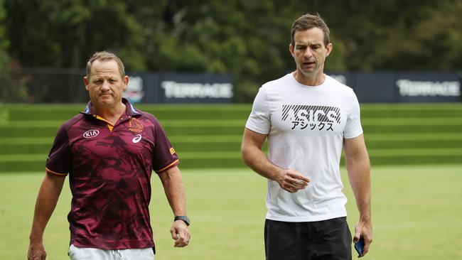
[[69, 174], [70, 244], [100, 249], [154, 247], [149, 218], [151, 170], [178, 164], [159, 121], [123, 99], [112, 126], [92, 111], [65, 122], [46, 162], [48, 174]]

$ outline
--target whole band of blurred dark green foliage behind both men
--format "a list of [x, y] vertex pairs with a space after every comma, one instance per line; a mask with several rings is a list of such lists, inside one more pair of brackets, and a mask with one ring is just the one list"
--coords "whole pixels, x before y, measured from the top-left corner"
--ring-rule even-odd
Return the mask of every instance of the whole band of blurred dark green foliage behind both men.
[[[1, 4], [4, 2], [4, 4]], [[294, 70], [291, 23], [320, 13], [331, 28], [326, 70], [459, 70], [458, 0], [0, 1], [0, 59], [84, 67], [98, 50], [127, 70], [230, 72], [235, 102]]]

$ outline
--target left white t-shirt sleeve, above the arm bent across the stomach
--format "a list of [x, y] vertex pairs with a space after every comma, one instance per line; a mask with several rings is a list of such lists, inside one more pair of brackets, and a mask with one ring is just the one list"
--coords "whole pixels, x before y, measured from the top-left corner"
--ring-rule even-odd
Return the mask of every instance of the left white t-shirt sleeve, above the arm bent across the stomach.
[[269, 120], [269, 102], [264, 87], [260, 87], [257, 97], [255, 97], [252, 112], [250, 112], [245, 127], [259, 134], [269, 134], [271, 128], [271, 121]]

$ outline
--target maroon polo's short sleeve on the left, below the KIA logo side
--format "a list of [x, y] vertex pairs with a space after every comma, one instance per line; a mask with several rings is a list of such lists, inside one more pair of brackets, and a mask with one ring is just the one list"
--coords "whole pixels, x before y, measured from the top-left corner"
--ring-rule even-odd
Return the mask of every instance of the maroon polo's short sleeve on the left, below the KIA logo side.
[[52, 175], [66, 176], [70, 172], [70, 146], [65, 126], [58, 129], [55, 141], [46, 161], [46, 172]]

